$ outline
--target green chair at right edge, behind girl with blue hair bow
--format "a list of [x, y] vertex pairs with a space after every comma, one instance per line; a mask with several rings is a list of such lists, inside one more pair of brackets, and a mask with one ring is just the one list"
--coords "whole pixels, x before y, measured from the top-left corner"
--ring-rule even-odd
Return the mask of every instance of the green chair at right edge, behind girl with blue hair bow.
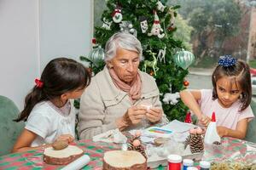
[[[252, 101], [251, 107], [253, 109], [254, 116], [256, 116], [256, 103]], [[256, 143], [256, 117], [253, 119], [253, 121], [249, 122], [245, 140]]]

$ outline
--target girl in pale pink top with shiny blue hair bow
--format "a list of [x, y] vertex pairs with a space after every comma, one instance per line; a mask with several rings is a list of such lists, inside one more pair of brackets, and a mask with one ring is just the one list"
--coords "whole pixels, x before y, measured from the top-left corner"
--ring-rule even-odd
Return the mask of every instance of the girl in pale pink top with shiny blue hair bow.
[[254, 117], [249, 66], [230, 55], [221, 57], [212, 73], [212, 86], [213, 90], [183, 90], [181, 99], [202, 125], [207, 126], [214, 111], [220, 137], [245, 138]]

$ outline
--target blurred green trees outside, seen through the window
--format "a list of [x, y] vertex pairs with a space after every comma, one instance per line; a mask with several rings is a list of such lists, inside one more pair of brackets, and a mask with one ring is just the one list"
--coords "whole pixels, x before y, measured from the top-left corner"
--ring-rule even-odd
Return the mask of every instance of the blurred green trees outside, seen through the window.
[[[240, 40], [236, 40], [238, 44], [232, 42], [241, 34], [242, 11], [239, 3], [233, 0], [170, 0], [168, 4], [180, 4], [183, 8], [178, 13], [193, 27], [191, 42], [197, 57], [196, 67], [208, 67], [212, 63], [207, 61], [215, 62], [224, 54], [246, 58], [246, 53], [241, 53], [240, 48], [247, 48], [247, 43]], [[247, 41], [244, 36], [243, 39]], [[233, 47], [226, 48], [229, 45]]]

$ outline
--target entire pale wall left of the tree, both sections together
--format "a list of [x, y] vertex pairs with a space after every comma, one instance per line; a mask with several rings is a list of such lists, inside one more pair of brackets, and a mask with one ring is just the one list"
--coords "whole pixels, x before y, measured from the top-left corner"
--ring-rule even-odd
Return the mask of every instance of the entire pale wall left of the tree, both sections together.
[[44, 65], [88, 54], [92, 0], [0, 0], [0, 95], [23, 109]]

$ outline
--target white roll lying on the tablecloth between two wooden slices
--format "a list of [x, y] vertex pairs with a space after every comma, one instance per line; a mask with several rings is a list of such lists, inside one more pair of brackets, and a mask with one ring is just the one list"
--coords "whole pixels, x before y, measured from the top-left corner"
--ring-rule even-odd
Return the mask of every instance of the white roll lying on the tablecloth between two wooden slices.
[[84, 167], [87, 163], [89, 163], [90, 157], [87, 155], [79, 157], [79, 159], [72, 161], [71, 163], [67, 164], [66, 167], [63, 167], [62, 170], [77, 170]]

